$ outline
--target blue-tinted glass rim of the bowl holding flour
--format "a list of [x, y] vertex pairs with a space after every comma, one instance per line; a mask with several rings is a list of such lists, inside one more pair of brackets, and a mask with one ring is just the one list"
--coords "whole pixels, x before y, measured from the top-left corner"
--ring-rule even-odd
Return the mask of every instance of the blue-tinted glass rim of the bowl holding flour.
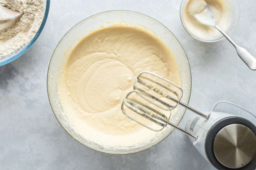
[[7, 63], [10, 63], [13, 60], [17, 59], [22, 54], [24, 54], [36, 42], [37, 38], [39, 37], [39, 35], [41, 34], [41, 32], [44, 28], [46, 19], [48, 17], [49, 9], [50, 9], [50, 0], [44, 0], [44, 18], [43, 18], [41, 26], [39, 27], [36, 35], [34, 36], [34, 38], [28, 44], [20, 47], [19, 49], [12, 52], [11, 54], [0, 57], [0, 66], [4, 65], [4, 64], [7, 64]]

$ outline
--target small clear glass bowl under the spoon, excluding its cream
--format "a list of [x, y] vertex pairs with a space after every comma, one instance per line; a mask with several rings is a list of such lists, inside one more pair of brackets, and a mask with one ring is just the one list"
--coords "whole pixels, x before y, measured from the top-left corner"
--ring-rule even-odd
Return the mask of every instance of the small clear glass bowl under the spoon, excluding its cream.
[[[186, 29], [186, 31], [192, 36], [194, 37], [196, 40], [199, 41], [203, 41], [203, 42], [216, 42], [216, 41], [220, 41], [222, 39], [224, 39], [225, 37], [220, 33], [218, 37], [214, 37], [214, 38], [210, 38], [209, 39], [202, 39], [196, 35], [194, 35], [192, 32], [189, 31], [189, 29], [187, 28], [184, 19], [183, 19], [183, 11], [184, 8], [187, 4], [189, 0], [182, 0], [181, 1], [181, 5], [180, 5], [180, 19], [181, 19], [181, 23], [184, 26], [184, 28]], [[239, 22], [239, 18], [240, 18], [240, 6], [239, 6], [239, 2], [238, 0], [227, 0], [230, 4], [231, 4], [231, 12], [232, 12], [232, 18], [231, 18], [231, 24], [229, 25], [227, 30], [224, 30], [228, 35], [230, 35], [235, 29], [236, 26]]]

